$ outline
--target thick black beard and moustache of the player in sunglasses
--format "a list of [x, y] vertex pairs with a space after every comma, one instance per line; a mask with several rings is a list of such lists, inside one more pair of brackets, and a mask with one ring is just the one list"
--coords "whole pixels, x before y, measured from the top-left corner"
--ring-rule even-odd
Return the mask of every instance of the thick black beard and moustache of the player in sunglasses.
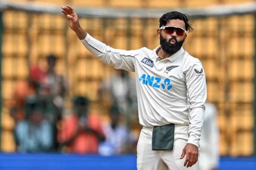
[[[175, 40], [175, 44], [171, 44], [171, 40]], [[160, 45], [161, 48], [165, 51], [166, 54], [174, 54], [179, 51], [183, 45], [184, 39], [181, 41], [177, 41], [175, 37], [171, 37], [169, 41], [166, 41], [166, 39], [160, 34]]]

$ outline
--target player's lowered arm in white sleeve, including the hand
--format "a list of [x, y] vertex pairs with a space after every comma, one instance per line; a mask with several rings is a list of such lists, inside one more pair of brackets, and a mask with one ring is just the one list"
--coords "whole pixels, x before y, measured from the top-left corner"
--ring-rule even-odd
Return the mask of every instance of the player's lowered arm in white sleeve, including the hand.
[[187, 87], [189, 104], [189, 138], [184, 147], [181, 159], [186, 155], [184, 166], [191, 167], [198, 160], [198, 146], [206, 101], [206, 79], [203, 66], [199, 60], [184, 66], [184, 79]]

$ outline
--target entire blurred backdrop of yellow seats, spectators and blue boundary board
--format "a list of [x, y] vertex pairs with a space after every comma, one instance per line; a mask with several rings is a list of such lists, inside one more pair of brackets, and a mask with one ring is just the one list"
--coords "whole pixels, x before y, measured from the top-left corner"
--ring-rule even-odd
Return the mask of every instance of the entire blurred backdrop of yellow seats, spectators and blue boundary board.
[[253, 0], [0, 0], [1, 169], [136, 169], [134, 73], [84, 48], [66, 4], [90, 35], [127, 50], [159, 45], [162, 14], [190, 15], [184, 49], [202, 61], [216, 110], [216, 169], [256, 169]]

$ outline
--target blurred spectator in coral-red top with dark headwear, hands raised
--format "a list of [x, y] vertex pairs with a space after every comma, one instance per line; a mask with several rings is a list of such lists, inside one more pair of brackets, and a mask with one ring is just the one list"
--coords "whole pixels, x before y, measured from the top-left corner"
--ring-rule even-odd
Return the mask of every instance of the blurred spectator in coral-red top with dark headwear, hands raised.
[[88, 113], [89, 100], [78, 96], [73, 100], [72, 115], [62, 120], [58, 141], [69, 153], [98, 153], [98, 144], [104, 141], [101, 120], [97, 113]]

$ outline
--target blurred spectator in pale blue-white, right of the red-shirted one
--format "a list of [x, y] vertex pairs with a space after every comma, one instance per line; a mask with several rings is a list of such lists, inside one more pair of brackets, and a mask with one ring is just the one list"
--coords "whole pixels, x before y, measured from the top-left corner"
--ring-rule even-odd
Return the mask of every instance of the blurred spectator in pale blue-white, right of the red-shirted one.
[[129, 130], [120, 122], [120, 112], [116, 106], [109, 110], [110, 122], [103, 126], [106, 141], [99, 146], [99, 154], [108, 156], [125, 153], [129, 146]]

